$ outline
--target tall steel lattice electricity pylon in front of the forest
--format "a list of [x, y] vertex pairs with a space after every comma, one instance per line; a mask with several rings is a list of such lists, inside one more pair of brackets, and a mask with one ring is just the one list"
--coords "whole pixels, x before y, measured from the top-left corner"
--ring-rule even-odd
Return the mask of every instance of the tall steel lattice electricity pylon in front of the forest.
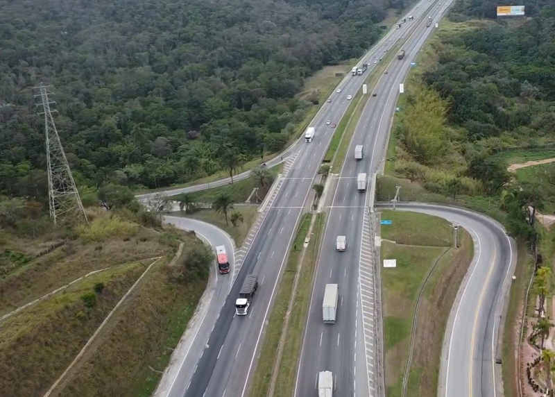
[[40, 97], [41, 103], [37, 103], [37, 106], [42, 106], [43, 111], [39, 115], [44, 115], [50, 217], [54, 224], [63, 222], [67, 218], [84, 219], [85, 222], [88, 222], [52, 118], [52, 112], [56, 112], [56, 110], [51, 110], [50, 105], [56, 102], [49, 99], [49, 95], [53, 95], [53, 93], [46, 90], [48, 87], [51, 85], [40, 83], [38, 87], [33, 87], [33, 90], [39, 90], [39, 94], [36, 94], [35, 98]]

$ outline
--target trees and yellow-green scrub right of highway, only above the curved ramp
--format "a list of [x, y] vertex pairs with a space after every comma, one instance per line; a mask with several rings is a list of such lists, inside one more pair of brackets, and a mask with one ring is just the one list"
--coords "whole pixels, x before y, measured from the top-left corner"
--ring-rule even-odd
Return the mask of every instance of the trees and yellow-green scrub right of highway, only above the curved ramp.
[[[526, 18], [475, 19], [487, 14], [483, 7], [456, 3], [451, 22], [425, 49], [395, 130], [394, 171], [453, 198], [494, 196], [506, 210], [505, 198], [518, 196], [536, 207], [532, 201], [555, 196], [555, 185], [511, 185], [499, 156], [555, 147], [555, 7], [538, 0], [527, 5]], [[522, 221], [521, 208], [528, 205], [518, 206]]]

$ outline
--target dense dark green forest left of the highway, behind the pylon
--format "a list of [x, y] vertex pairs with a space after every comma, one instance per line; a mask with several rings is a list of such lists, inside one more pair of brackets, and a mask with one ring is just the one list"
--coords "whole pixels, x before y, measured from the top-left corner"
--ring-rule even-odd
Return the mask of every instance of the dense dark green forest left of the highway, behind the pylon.
[[53, 85], [76, 181], [164, 187], [282, 149], [304, 79], [404, 0], [0, 0], [0, 194], [44, 196]]

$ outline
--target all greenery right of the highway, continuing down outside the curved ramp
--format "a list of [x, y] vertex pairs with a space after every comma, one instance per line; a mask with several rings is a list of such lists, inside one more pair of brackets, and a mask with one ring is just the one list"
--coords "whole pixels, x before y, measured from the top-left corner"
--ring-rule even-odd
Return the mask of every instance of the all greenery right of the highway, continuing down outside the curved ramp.
[[[504, 378], [515, 380], [524, 346], [519, 347], [518, 323], [524, 322], [525, 332], [538, 327], [532, 324], [538, 293], [532, 289], [528, 296], [531, 310], [523, 303], [529, 277], [536, 273], [531, 269], [553, 267], [555, 167], [509, 167], [555, 157], [555, 86], [549, 77], [555, 36], [539, 27], [555, 23], [555, 9], [549, 1], [535, 0], [527, 3], [527, 18], [496, 21], [495, 6], [458, 1], [416, 58], [398, 103], [377, 200], [390, 200], [401, 186], [401, 201], [483, 212], [501, 221], [521, 250], [532, 253], [519, 255], [504, 330]], [[531, 360], [521, 362], [523, 387], [531, 387], [528, 364]], [[517, 386], [506, 382], [506, 394], [516, 396]], [[538, 387], [545, 388], [546, 381]]]

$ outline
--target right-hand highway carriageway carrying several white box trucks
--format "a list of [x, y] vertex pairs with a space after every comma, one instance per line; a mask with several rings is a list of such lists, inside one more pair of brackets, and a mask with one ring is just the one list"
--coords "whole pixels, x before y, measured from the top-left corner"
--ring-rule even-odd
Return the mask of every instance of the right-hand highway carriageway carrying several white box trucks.
[[[387, 137], [388, 121], [393, 115], [399, 84], [402, 83], [411, 60], [424, 44], [432, 28], [425, 26], [428, 17], [437, 21], [445, 10], [431, 3], [420, 3], [412, 10], [413, 33], [402, 46], [403, 60], [395, 58], [387, 74], [379, 79], [370, 101], [364, 108], [350, 143], [341, 174], [336, 178], [330, 214], [327, 220], [320, 260], [314, 283], [309, 318], [303, 339], [295, 396], [316, 393], [316, 374], [332, 371], [336, 390], [345, 396], [377, 396], [377, 346], [375, 346], [375, 289], [373, 253], [368, 228], [368, 194], [357, 191], [357, 174], [370, 176], [377, 171], [382, 147]], [[421, 15], [425, 19], [419, 20]], [[407, 27], [410, 27], [408, 25]], [[355, 160], [355, 146], [364, 146], [364, 158]], [[334, 249], [337, 235], [345, 235], [348, 249]], [[322, 300], [325, 284], [339, 285], [339, 308], [335, 324], [324, 324]]]

